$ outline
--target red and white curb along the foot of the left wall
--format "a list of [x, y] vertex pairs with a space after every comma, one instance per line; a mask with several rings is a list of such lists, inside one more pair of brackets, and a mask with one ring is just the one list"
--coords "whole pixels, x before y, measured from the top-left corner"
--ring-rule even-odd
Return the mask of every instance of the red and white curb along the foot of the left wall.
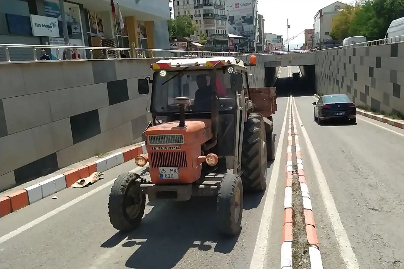
[[135, 159], [139, 154], [146, 153], [145, 143], [140, 143], [95, 162], [90, 162], [89, 164], [51, 177], [25, 189], [20, 189], [6, 196], [0, 196], [0, 217], [68, 188], [79, 179], [89, 177], [93, 172], [104, 172], [124, 162]]

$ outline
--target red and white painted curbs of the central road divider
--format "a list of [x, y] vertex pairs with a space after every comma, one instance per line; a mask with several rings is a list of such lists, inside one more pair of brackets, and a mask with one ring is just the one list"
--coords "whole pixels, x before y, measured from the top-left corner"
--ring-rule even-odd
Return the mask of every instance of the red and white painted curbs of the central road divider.
[[[292, 120], [293, 120], [293, 134], [292, 134]], [[293, 227], [292, 227], [292, 139], [295, 139], [296, 159], [297, 159], [297, 172], [299, 175], [299, 185], [303, 199], [303, 210], [305, 219], [305, 228], [307, 242], [309, 244], [309, 257], [311, 269], [322, 269], [322, 260], [319, 250], [318, 237], [316, 233], [316, 225], [314, 224], [313, 208], [309, 195], [309, 189], [306, 184], [306, 178], [303, 168], [302, 154], [299, 144], [299, 135], [297, 132], [296, 120], [293, 113], [293, 107], [290, 106], [289, 111], [289, 125], [288, 125], [288, 146], [287, 146], [287, 159], [286, 159], [286, 186], [284, 196], [284, 220], [282, 232], [282, 247], [281, 247], [281, 269], [292, 269], [292, 241], [293, 241]]]

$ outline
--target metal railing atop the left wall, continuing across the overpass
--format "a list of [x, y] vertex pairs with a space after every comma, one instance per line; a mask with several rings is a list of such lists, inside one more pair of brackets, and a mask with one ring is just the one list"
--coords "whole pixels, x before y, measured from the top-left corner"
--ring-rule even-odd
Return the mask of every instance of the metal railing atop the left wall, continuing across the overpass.
[[[62, 60], [60, 50], [68, 49], [82, 49], [89, 51], [89, 58], [94, 59], [93, 52], [95, 50], [101, 50], [102, 54], [100, 58], [97, 59], [111, 59], [111, 55], [116, 58], [121, 58], [121, 53], [128, 53], [129, 58], [139, 59], [139, 58], [177, 58], [177, 57], [220, 57], [220, 56], [242, 56], [242, 55], [280, 55], [288, 53], [314, 53], [316, 50], [290, 50], [290, 51], [272, 51], [272, 52], [261, 52], [261, 53], [233, 53], [233, 52], [215, 52], [215, 51], [194, 51], [194, 50], [162, 50], [154, 48], [112, 48], [112, 47], [90, 47], [90, 46], [63, 46], [63, 45], [27, 45], [27, 44], [0, 44], [0, 50], [4, 49], [6, 55], [6, 62], [11, 62], [9, 49], [10, 48], [27, 48], [32, 49], [32, 60], [28, 61], [38, 61], [37, 52], [42, 49], [56, 49], [56, 61]], [[110, 51], [114, 53], [111, 54]], [[76, 53], [76, 59], [72, 61], [80, 60], [78, 59], [78, 51], [74, 50]]]

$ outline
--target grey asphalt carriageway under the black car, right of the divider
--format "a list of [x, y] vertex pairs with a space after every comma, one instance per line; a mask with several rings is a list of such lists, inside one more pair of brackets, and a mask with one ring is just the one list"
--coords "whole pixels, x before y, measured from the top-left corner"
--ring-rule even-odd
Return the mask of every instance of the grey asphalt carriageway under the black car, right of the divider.
[[360, 115], [320, 126], [316, 99], [294, 100], [324, 268], [404, 268], [404, 131]]

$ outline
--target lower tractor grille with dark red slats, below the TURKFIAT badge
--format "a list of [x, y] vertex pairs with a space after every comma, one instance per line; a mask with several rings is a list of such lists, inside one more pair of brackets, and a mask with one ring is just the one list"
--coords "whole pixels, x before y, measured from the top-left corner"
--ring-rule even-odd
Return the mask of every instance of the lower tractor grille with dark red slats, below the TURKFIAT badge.
[[150, 152], [151, 168], [187, 167], [185, 151]]

